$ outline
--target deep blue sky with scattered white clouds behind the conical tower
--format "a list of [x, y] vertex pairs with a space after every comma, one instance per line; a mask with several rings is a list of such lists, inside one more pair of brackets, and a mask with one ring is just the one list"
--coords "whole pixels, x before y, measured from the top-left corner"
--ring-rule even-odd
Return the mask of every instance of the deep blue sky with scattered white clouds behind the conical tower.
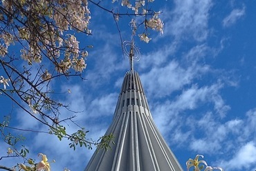
[[[154, 5], [163, 12], [164, 34], [152, 32], [148, 44], [136, 39], [141, 59], [135, 69], [165, 141], [184, 170], [185, 161], [196, 154], [228, 171], [255, 170], [256, 1], [155, 0]], [[60, 92], [71, 90], [61, 100], [83, 111], [77, 123], [90, 130], [89, 138], [98, 139], [111, 123], [129, 61], [122, 57], [111, 14], [93, 6], [91, 12], [93, 36], [77, 34], [81, 45], [94, 46], [83, 73], [86, 81], [62, 79], [53, 86], [60, 86]], [[123, 40], [130, 40], [129, 20], [118, 21]], [[3, 108], [6, 99], [0, 101]], [[18, 108], [14, 111], [12, 126], [44, 130]], [[68, 114], [62, 111], [63, 117]], [[83, 170], [94, 152], [73, 151], [68, 141], [48, 134], [21, 133], [31, 158], [44, 152], [49, 161], [55, 159], [52, 170]], [[0, 146], [0, 154], [6, 154], [8, 146], [1, 141]], [[0, 165], [15, 162], [5, 159]]]

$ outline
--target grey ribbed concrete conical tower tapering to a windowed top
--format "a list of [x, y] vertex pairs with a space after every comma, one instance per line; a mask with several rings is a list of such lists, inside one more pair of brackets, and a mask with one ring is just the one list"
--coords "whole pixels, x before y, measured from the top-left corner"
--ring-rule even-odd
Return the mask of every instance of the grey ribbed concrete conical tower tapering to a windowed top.
[[125, 74], [113, 122], [110, 150], [95, 152], [86, 171], [180, 171], [179, 162], [156, 128], [138, 73]]

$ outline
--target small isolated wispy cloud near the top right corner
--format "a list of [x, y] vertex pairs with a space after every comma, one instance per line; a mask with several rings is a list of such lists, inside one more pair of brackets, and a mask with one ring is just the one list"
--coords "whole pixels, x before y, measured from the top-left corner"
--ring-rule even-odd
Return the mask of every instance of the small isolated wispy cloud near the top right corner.
[[243, 7], [241, 9], [234, 9], [230, 14], [223, 19], [223, 26], [224, 27], [229, 27], [232, 26], [237, 22], [238, 19], [244, 16], [246, 14], [246, 8]]

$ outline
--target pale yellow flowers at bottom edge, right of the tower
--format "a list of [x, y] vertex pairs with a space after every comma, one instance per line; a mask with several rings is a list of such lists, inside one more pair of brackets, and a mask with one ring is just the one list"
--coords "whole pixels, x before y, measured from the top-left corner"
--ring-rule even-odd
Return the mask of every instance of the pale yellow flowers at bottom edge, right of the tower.
[[224, 171], [222, 168], [220, 167], [212, 167], [209, 166], [206, 161], [204, 160], [200, 160], [199, 161], [199, 157], [203, 158], [203, 155], [199, 155], [197, 154], [196, 157], [194, 159], [188, 159], [188, 161], [186, 162], [187, 165], [187, 170], [190, 170], [190, 168], [194, 167], [194, 171], [212, 171], [212, 170], [220, 170], [220, 171]]

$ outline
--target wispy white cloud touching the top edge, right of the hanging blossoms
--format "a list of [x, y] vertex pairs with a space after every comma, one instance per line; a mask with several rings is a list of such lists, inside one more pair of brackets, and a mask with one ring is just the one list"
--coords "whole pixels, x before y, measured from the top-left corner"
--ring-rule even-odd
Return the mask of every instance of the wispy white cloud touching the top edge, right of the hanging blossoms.
[[173, 12], [167, 12], [165, 33], [177, 39], [194, 38], [203, 41], [208, 37], [208, 18], [212, 7], [211, 0], [176, 0]]

